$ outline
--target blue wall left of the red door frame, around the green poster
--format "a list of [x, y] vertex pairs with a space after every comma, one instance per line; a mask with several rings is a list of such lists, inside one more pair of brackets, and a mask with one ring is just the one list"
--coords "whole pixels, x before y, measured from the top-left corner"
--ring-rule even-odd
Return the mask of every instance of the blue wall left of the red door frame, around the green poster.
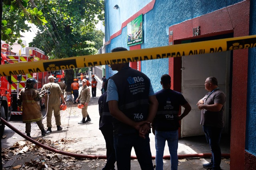
[[[143, 15], [144, 43], [141, 48], [161, 47], [168, 45], [168, 28], [171, 25], [202, 16], [209, 12], [225, 8], [242, 0], [156, 0], [154, 8]], [[151, 0], [106, 0], [105, 1], [105, 33], [106, 41], [110, 36], [121, 29], [122, 23], [136, 14]], [[119, 10], [113, 9], [114, 5], [120, 6]], [[126, 8], [127, 6], [127, 8]], [[127, 28], [122, 29], [122, 34], [111, 40], [106, 45], [106, 53], [115, 47], [127, 47]], [[142, 72], [151, 80], [154, 91], [161, 89], [160, 77], [168, 74], [168, 59], [142, 61]], [[147, 69], [152, 68], [152, 69]]]

